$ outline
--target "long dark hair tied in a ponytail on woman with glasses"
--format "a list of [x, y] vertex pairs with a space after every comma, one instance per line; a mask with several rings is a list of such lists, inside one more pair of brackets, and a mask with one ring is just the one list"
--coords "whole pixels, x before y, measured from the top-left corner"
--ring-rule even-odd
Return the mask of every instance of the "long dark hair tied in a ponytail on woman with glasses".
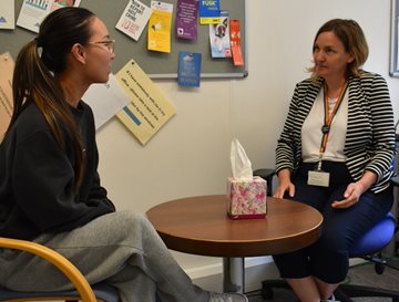
[[12, 79], [13, 113], [8, 128], [16, 123], [29, 102], [43, 114], [51, 133], [62, 149], [66, 129], [74, 145], [75, 190], [83, 178], [83, 144], [63, 91], [55, 75], [66, 67], [66, 55], [75, 43], [85, 44], [91, 35], [94, 14], [83, 8], [62, 8], [50, 13], [41, 23], [39, 35], [25, 44], [16, 60]]

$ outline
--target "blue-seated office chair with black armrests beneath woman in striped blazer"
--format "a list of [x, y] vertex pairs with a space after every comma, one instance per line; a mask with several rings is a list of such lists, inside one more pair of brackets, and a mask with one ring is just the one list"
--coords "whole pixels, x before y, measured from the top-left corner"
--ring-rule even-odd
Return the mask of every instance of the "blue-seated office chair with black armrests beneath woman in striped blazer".
[[[274, 169], [257, 169], [254, 170], [254, 176], [259, 176], [267, 181], [268, 195], [272, 195], [273, 178], [275, 176]], [[392, 179], [392, 185], [399, 185], [397, 178]], [[395, 183], [397, 181], [397, 183]], [[380, 256], [380, 251], [391, 241], [398, 228], [396, 220], [389, 212], [375, 227], [361, 236], [350, 248], [350, 258], [364, 258], [376, 263], [375, 270], [381, 274], [385, 269], [386, 260]], [[379, 253], [378, 253], [379, 252]], [[376, 256], [379, 254], [379, 256]], [[265, 280], [262, 282], [262, 296], [265, 300], [273, 298], [273, 289], [290, 289], [288, 283], [284, 280]], [[340, 284], [335, 291], [335, 296], [341, 302], [351, 302], [350, 298], [359, 296], [382, 296], [391, 298], [392, 302], [399, 302], [399, 291], [390, 291], [377, 289], [372, 287]]]

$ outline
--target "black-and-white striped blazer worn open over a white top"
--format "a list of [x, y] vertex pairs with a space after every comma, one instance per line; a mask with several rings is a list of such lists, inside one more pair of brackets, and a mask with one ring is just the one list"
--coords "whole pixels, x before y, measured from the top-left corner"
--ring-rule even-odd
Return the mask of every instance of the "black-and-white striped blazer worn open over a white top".
[[[344, 153], [346, 165], [355, 180], [365, 170], [374, 171], [371, 186], [379, 192], [389, 186], [395, 155], [393, 111], [388, 85], [378, 74], [361, 71], [349, 79], [348, 124]], [[295, 175], [301, 160], [301, 126], [323, 87], [323, 81], [307, 79], [298, 83], [288, 115], [277, 142], [276, 170], [288, 168]]]

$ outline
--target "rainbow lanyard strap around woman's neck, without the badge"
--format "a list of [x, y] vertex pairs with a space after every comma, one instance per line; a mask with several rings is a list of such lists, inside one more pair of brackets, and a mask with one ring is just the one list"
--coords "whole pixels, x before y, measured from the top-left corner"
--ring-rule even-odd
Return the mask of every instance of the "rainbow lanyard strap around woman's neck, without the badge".
[[327, 90], [327, 84], [326, 82], [324, 83], [324, 107], [325, 107], [325, 118], [324, 118], [324, 125], [321, 126], [321, 133], [323, 133], [323, 137], [321, 137], [321, 144], [320, 144], [320, 157], [319, 157], [319, 163], [318, 163], [318, 167], [317, 169], [321, 169], [321, 157], [323, 154], [326, 152], [326, 147], [327, 147], [327, 142], [328, 142], [328, 134], [330, 132], [330, 126], [332, 123], [332, 118], [335, 117], [340, 104], [342, 103], [346, 90], [348, 88], [348, 82], [345, 83], [345, 85], [342, 86], [338, 100], [332, 108], [332, 112], [329, 113], [329, 108], [328, 108], [328, 90]]

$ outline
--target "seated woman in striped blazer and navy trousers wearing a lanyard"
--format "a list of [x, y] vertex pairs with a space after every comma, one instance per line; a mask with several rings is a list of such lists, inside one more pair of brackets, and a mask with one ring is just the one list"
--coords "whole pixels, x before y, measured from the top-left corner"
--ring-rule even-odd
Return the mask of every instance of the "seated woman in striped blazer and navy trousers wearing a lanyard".
[[277, 143], [274, 192], [324, 216], [315, 244], [274, 257], [303, 302], [334, 300], [348, 272], [348, 248], [393, 200], [393, 113], [386, 81], [360, 69], [368, 56], [361, 28], [354, 20], [328, 21], [313, 56], [311, 76], [296, 85]]

